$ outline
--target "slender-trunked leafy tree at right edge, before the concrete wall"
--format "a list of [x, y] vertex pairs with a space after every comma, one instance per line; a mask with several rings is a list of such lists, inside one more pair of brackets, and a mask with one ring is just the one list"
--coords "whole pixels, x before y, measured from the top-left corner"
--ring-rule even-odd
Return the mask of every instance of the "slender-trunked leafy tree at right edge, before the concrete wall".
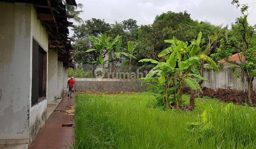
[[[256, 76], [256, 26], [250, 26], [247, 22], [248, 5], [240, 4], [238, 0], [233, 0], [231, 3], [236, 5], [236, 8], [240, 8], [242, 16], [236, 18], [230, 30], [226, 27], [225, 40], [221, 40], [218, 53], [213, 54], [212, 57], [216, 60], [224, 58], [226, 62], [241, 68], [248, 83], [247, 101], [252, 103], [252, 81]], [[239, 55], [239, 62], [228, 59], [233, 53]]]

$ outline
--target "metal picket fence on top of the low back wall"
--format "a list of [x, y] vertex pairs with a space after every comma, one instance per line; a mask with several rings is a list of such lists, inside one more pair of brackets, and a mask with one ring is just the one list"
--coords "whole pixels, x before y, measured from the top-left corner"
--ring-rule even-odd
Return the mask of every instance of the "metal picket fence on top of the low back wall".
[[69, 69], [69, 77], [74, 78], [108, 78], [139, 79], [145, 77], [152, 67], [146, 66], [108, 66], [94, 64], [76, 64]]

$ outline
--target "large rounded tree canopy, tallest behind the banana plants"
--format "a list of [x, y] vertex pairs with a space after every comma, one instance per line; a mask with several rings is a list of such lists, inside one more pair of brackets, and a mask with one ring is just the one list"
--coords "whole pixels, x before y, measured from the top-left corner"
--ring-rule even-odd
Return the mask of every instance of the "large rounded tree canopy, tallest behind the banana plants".
[[169, 45], [164, 43], [164, 39], [177, 39], [191, 43], [190, 41], [196, 38], [197, 33], [202, 31], [202, 42], [200, 49], [208, 44], [208, 36], [214, 35], [218, 32], [221, 26], [214, 26], [209, 22], [193, 21], [190, 14], [185, 12], [171, 12], [162, 13], [156, 16], [152, 25], [143, 25], [139, 29], [138, 46], [135, 49], [135, 57], [138, 59], [149, 58], [160, 60], [158, 54], [168, 48]]

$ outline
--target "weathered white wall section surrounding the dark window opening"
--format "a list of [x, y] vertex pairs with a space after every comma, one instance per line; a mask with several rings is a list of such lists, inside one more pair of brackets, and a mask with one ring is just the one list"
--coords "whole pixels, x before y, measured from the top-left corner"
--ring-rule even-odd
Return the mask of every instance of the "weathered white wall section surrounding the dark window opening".
[[[40, 20], [37, 20], [37, 13], [34, 10], [34, 7], [31, 5], [31, 38], [30, 38], [30, 54], [32, 55], [32, 40], [33, 38], [37, 43], [47, 52], [47, 64], [48, 64], [48, 34], [46, 28], [43, 27]], [[30, 64], [32, 64], [32, 59], [30, 59]], [[48, 70], [48, 65], [47, 69]], [[32, 65], [30, 65], [30, 75], [32, 76]], [[48, 74], [47, 74], [48, 76]], [[48, 78], [48, 77], [47, 77]], [[32, 84], [32, 79], [31, 79]], [[48, 86], [48, 83], [46, 83]], [[31, 89], [32, 86], [30, 86]], [[46, 91], [47, 98], [47, 91]], [[31, 100], [30, 100], [31, 101]], [[31, 104], [30, 104], [31, 105]], [[39, 130], [43, 127], [47, 118], [47, 100], [43, 100], [40, 103], [33, 105], [30, 108], [30, 118], [29, 118], [29, 128], [30, 135], [29, 140], [30, 144], [37, 136]]]

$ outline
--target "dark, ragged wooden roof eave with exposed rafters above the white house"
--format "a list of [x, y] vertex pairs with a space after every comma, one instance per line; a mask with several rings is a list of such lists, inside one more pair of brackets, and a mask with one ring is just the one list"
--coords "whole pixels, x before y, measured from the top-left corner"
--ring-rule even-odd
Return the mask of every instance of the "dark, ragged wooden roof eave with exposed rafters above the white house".
[[[65, 65], [74, 67], [72, 64], [71, 54], [74, 47], [71, 45], [72, 38], [68, 37], [68, 27], [73, 27], [73, 22], [69, 22], [67, 18], [73, 18], [72, 15], [66, 14], [65, 5], [62, 0], [0, 0], [5, 2], [21, 2], [33, 4], [37, 19], [40, 20], [48, 33], [49, 49], [58, 51], [58, 57], [66, 59]], [[75, 0], [66, 0], [69, 5], [76, 5]]]

